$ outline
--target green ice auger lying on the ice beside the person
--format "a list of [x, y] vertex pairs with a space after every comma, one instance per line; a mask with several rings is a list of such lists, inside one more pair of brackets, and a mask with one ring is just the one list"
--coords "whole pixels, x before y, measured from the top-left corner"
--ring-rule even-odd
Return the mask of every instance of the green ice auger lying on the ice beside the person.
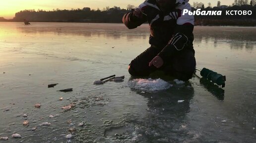
[[213, 72], [209, 69], [203, 68], [202, 70], [195, 68], [197, 71], [200, 72], [200, 75], [213, 83], [216, 83], [217, 85], [221, 86], [221, 88], [225, 87], [225, 81], [226, 81], [226, 76], [219, 74], [217, 72]]

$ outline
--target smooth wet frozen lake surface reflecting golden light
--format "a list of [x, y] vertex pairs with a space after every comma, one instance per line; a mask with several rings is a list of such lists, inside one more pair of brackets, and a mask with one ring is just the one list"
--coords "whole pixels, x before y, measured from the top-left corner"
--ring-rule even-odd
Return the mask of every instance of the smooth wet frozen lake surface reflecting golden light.
[[[147, 25], [0, 23], [0, 138], [9, 138], [0, 142], [256, 141], [256, 28], [194, 28], [197, 68], [226, 75], [225, 92], [196, 76], [185, 83], [130, 78], [128, 64], [149, 47], [148, 36]], [[125, 81], [92, 84], [112, 74]], [[147, 91], [156, 85], [166, 89]], [[73, 91], [57, 92], [66, 88]]]

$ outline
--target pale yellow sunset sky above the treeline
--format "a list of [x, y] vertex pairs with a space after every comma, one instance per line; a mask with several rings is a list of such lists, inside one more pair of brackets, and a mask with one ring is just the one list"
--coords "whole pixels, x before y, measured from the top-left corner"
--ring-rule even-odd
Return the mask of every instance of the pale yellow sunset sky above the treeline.
[[[1, 0], [0, 1], [0, 17], [12, 19], [15, 13], [24, 9], [43, 9], [53, 10], [71, 9], [90, 7], [91, 9], [103, 9], [106, 6], [120, 6], [126, 8], [128, 4], [138, 6], [144, 0]], [[211, 2], [212, 6], [217, 5], [218, 0], [190, 0], [192, 4], [194, 1], [203, 2], [207, 5]], [[220, 0], [223, 5], [230, 5], [234, 0]]]

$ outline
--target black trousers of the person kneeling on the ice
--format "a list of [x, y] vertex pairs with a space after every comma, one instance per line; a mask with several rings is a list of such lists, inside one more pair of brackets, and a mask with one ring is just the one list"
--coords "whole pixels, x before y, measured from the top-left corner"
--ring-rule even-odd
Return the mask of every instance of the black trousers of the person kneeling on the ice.
[[149, 62], [157, 56], [160, 51], [160, 48], [151, 45], [151, 47], [130, 62], [128, 72], [132, 76], [148, 76], [152, 72], [161, 70], [180, 80], [187, 81], [192, 78], [196, 66], [194, 52], [192, 50], [185, 48], [177, 52], [177, 54], [168, 59], [168, 61], [164, 61], [164, 65], [159, 69], [154, 66], [149, 67]]

